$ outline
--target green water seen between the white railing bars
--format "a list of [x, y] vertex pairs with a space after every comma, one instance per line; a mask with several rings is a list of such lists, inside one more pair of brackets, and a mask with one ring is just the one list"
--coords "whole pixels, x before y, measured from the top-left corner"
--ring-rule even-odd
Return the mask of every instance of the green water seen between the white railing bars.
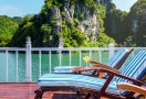
[[[69, 66], [70, 58], [69, 53], [63, 53], [61, 58], [62, 63], [61, 66]], [[90, 56], [88, 53], [81, 54], [81, 65], [86, 66], [86, 63], [83, 61], [84, 56]], [[100, 61], [98, 52], [92, 52], [91, 58], [95, 61]], [[7, 74], [7, 58], [6, 53], [0, 52], [0, 81], [6, 81], [6, 74]], [[106, 64], [108, 61], [108, 53], [102, 52], [102, 63]], [[52, 54], [51, 55], [51, 69], [50, 69], [50, 55], [42, 54], [41, 55], [41, 75], [52, 73], [53, 68], [60, 65], [60, 55]], [[40, 61], [39, 54], [32, 54], [32, 81], [36, 81], [40, 75]], [[80, 54], [72, 53], [71, 55], [71, 66], [80, 66]], [[8, 81], [15, 81], [17, 79], [17, 59], [15, 53], [9, 52], [8, 54]], [[88, 64], [90, 65], [90, 64]], [[25, 53], [18, 54], [18, 80], [25, 81]]]

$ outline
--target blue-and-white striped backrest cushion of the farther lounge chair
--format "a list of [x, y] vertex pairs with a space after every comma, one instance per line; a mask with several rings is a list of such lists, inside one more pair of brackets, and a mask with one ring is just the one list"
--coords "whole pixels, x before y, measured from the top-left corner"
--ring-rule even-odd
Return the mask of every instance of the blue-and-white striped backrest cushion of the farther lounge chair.
[[116, 68], [122, 61], [124, 61], [129, 54], [129, 50], [127, 48], [119, 48], [117, 52], [112, 56], [112, 58], [107, 62], [107, 66]]

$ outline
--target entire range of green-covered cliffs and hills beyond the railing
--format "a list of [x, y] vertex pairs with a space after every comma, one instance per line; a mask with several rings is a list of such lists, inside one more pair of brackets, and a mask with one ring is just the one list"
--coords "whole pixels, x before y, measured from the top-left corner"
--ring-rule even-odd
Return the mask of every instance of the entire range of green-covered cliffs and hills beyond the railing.
[[22, 47], [27, 36], [35, 47], [146, 46], [146, 0], [137, 0], [128, 13], [97, 0], [44, 2], [39, 14], [0, 15], [0, 46]]

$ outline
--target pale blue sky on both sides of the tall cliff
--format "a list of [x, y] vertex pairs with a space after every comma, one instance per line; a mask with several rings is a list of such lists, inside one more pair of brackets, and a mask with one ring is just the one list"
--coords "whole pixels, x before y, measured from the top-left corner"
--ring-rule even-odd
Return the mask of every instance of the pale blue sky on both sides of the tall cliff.
[[[113, 0], [117, 9], [129, 11], [129, 8], [137, 0]], [[38, 14], [44, 0], [0, 0], [0, 15], [24, 16], [27, 14]]]

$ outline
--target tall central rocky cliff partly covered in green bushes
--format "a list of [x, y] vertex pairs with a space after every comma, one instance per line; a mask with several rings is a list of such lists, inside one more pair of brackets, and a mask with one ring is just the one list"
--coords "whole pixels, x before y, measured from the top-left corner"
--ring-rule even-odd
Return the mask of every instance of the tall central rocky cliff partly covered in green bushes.
[[13, 46], [23, 46], [19, 41], [25, 36], [31, 36], [32, 46], [92, 45], [104, 31], [105, 8], [107, 13], [114, 8], [112, 0], [44, 0], [44, 2], [39, 14], [24, 16], [13, 36]]

